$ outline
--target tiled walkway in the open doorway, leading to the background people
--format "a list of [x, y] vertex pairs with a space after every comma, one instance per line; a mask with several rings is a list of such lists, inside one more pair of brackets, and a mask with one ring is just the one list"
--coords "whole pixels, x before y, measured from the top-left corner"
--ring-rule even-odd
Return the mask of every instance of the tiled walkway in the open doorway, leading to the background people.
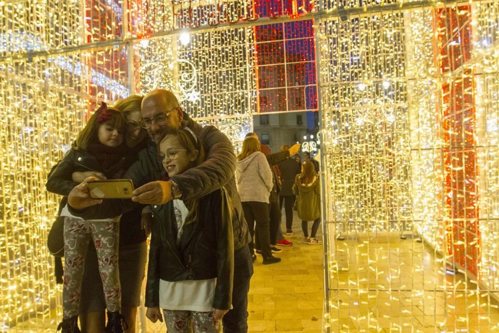
[[[284, 227], [284, 225], [282, 225]], [[309, 223], [309, 228], [311, 223]], [[305, 245], [295, 217], [293, 246], [280, 247], [280, 263], [254, 264], [249, 295], [250, 332], [321, 332], [323, 307], [322, 245]], [[284, 229], [285, 230], [285, 229]], [[321, 230], [317, 238], [322, 239]]]

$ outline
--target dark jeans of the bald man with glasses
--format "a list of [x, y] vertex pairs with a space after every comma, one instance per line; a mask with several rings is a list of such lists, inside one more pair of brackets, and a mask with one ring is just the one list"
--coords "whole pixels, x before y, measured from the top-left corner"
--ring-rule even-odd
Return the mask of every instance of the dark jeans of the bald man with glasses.
[[250, 249], [244, 246], [234, 251], [234, 288], [232, 291], [232, 307], [224, 318], [225, 333], [248, 332], [248, 292], [253, 275], [253, 260]]

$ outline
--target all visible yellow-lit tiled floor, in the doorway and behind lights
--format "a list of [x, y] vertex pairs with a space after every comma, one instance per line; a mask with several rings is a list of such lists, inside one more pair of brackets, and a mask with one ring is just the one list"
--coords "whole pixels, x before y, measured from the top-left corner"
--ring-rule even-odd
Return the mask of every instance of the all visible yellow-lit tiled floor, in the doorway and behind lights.
[[[300, 222], [294, 221], [295, 234], [286, 236], [293, 246], [275, 254], [282, 261], [262, 265], [258, 256], [254, 264], [250, 332], [321, 332], [323, 248], [303, 244]], [[359, 238], [339, 241], [337, 249], [340, 271], [331, 284], [331, 332], [499, 332], [498, 302], [488, 293], [470, 292], [474, 285], [462, 274], [439, 274], [439, 258], [422, 243]], [[374, 257], [380, 260], [369, 260]], [[370, 273], [373, 269], [378, 273]], [[442, 296], [444, 286], [447, 297]], [[369, 292], [360, 294], [358, 288]], [[166, 331], [141, 310], [137, 332]], [[60, 314], [50, 317], [22, 323], [12, 332], [54, 332]]]

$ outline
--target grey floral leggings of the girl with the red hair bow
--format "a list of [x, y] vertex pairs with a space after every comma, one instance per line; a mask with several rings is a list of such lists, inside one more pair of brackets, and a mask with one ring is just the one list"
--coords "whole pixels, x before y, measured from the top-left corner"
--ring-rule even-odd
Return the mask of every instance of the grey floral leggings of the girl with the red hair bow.
[[121, 305], [118, 272], [118, 222], [89, 222], [64, 218], [64, 284], [62, 312], [64, 318], [78, 315], [81, 281], [88, 243], [97, 251], [99, 273], [108, 311], [119, 311]]

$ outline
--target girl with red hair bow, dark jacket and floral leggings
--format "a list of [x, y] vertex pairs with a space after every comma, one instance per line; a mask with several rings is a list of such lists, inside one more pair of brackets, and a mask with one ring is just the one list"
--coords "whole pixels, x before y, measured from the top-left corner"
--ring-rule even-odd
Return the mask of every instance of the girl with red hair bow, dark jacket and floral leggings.
[[[116, 108], [102, 102], [79, 132], [72, 147], [52, 170], [47, 190], [65, 195], [76, 183], [61, 182], [73, 172], [94, 171], [101, 178], [120, 178], [125, 171], [126, 146], [123, 132], [126, 122]], [[69, 191], [70, 191], [69, 188]], [[63, 204], [64, 205], [64, 204]], [[57, 330], [79, 333], [78, 305], [83, 268], [90, 241], [95, 245], [106, 301], [108, 323], [106, 332], [123, 332], [126, 323], [120, 313], [121, 290], [118, 274], [118, 232], [120, 216], [102, 220], [83, 220], [73, 216], [67, 205], [60, 211], [64, 217], [64, 278], [62, 288], [63, 320]], [[125, 326], [125, 328], [123, 328]]]

